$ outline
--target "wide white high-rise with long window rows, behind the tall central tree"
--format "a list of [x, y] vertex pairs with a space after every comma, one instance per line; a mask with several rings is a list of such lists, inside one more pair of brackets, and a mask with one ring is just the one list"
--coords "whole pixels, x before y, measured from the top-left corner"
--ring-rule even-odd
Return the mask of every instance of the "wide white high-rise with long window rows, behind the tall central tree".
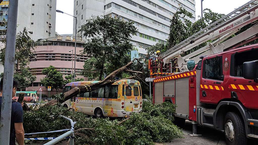
[[[187, 18], [195, 22], [194, 0], [74, 0], [77, 30], [92, 15], [109, 15], [134, 21], [139, 33], [132, 36], [131, 43], [144, 53], [146, 47], [164, 43], [170, 33], [170, 20], [179, 6], [193, 14]], [[75, 35], [75, 20], [74, 20]], [[77, 36], [80, 34], [77, 33]]]

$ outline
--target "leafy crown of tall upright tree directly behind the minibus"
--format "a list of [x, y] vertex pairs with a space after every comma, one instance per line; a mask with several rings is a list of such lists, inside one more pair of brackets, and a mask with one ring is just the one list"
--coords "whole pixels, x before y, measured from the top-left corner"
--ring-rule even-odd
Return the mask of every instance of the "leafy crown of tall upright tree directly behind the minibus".
[[110, 74], [130, 61], [127, 53], [133, 45], [129, 40], [137, 32], [133, 24], [108, 16], [92, 16], [86, 20], [79, 30], [88, 38], [82, 53], [92, 58], [85, 61], [83, 76], [101, 80], [104, 73]]

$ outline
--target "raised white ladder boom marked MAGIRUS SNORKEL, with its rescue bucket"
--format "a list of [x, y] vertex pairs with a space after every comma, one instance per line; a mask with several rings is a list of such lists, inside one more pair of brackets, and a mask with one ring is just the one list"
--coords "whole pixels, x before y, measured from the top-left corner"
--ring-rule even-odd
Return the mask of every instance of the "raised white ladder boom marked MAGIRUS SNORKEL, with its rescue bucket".
[[[237, 48], [257, 39], [258, 26], [254, 25], [253, 27], [249, 28], [243, 33], [240, 33], [235, 37], [223, 42], [225, 39], [229, 38], [231, 35], [238, 32], [242, 27], [250, 23], [254, 23], [258, 19], [257, 3], [257, 0], [249, 1], [243, 6], [240, 6], [231, 13], [213, 22], [206, 28], [195, 33], [191, 37], [185, 39], [181, 43], [170, 48], [163, 54], [159, 55], [159, 59], [163, 60], [163, 67], [161, 69], [163, 70], [162, 72], [157, 72], [157, 68], [155, 68], [155, 66], [151, 67], [151, 64], [154, 63], [151, 63], [151, 61], [153, 60], [149, 60], [150, 76], [160, 77], [171, 75], [178, 72], [188, 71], [186, 65], [186, 62], [188, 60], [194, 60], [195, 63], [198, 63], [198, 61], [200, 60], [199, 57], [201, 55], [211, 55], [223, 52], [224, 50], [227, 50], [229, 48]], [[180, 54], [183, 54], [184, 52], [192, 49], [193, 47], [198, 46], [199, 44], [202, 44], [209, 40], [212, 40], [214, 42], [209, 43], [203, 48], [200, 48], [186, 56], [180, 56]], [[173, 72], [175, 68], [172, 68], [171, 62], [175, 62], [175, 60], [178, 64], [178, 67], [176, 68], [178, 68], [180, 71]]]

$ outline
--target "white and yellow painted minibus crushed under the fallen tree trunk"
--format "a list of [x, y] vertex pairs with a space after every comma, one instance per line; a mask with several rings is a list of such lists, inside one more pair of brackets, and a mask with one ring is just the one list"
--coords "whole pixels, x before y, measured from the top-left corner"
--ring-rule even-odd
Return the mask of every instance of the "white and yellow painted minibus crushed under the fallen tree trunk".
[[[97, 82], [99, 81], [68, 83], [64, 87], [64, 92], [80, 85]], [[137, 80], [118, 80], [112, 85], [78, 94], [64, 102], [63, 106], [96, 117], [127, 117], [132, 112], [142, 111], [141, 85]]]

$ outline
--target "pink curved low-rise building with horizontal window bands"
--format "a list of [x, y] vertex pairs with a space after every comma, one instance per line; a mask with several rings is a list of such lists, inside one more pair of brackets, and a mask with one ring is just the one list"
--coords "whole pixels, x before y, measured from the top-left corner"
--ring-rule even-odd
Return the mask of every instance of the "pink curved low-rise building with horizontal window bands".
[[[80, 73], [83, 70], [84, 61], [89, 59], [87, 55], [80, 55], [80, 51], [84, 49], [83, 43], [77, 42], [76, 56], [74, 55], [75, 43], [69, 39], [66, 41], [53, 40], [48, 42], [39, 42], [35, 46], [35, 54], [30, 58], [29, 67], [31, 68], [31, 73], [37, 77], [36, 81], [31, 84], [30, 87], [26, 88], [26, 91], [38, 91], [40, 88], [40, 79], [45, 76], [42, 74], [42, 69], [54, 66], [60, 73], [65, 76], [72, 73], [72, 65], [74, 65], [74, 60], [76, 60], [76, 76], [77, 78], [87, 78], [83, 77]], [[69, 52], [73, 50], [73, 52]], [[73, 53], [73, 54], [72, 54]], [[73, 66], [74, 67], [74, 66]], [[44, 86], [42, 87], [42, 94], [49, 95], [49, 91]], [[60, 90], [59, 92], [62, 92]], [[39, 92], [38, 92], [39, 94]], [[56, 94], [55, 90], [50, 91], [50, 95]]]

